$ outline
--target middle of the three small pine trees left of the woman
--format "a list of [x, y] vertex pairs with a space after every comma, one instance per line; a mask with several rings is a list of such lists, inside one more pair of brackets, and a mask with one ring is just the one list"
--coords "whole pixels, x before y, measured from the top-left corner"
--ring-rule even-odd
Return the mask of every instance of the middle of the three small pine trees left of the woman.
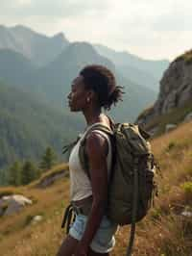
[[27, 185], [36, 179], [37, 169], [31, 161], [26, 161], [21, 170], [21, 183]]

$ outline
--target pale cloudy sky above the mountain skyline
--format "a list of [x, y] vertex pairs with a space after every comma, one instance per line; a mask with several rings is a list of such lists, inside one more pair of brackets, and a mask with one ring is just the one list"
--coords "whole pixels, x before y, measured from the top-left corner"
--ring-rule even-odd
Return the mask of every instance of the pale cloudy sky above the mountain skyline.
[[101, 43], [145, 59], [192, 48], [191, 0], [0, 0], [0, 24]]

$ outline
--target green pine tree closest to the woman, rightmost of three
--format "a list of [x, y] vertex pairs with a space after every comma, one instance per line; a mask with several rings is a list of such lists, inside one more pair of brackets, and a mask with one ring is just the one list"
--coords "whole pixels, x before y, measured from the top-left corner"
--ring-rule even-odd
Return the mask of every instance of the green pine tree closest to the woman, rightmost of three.
[[48, 146], [45, 150], [44, 155], [42, 156], [42, 160], [40, 162], [40, 168], [43, 170], [50, 169], [55, 165], [56, 159], [57, 159], [56, 153], [50, 146]]

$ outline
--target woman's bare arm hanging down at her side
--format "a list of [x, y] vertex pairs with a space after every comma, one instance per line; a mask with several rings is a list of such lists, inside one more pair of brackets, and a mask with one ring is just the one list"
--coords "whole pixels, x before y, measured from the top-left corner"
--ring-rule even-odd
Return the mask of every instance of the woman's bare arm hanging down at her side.
[[104, 216], [108, 199], [108, 141], [100, 134], [92, 132], [86, 139], [85, 152], [88, 157], [93, 202], [81, 243], [88, 247]]

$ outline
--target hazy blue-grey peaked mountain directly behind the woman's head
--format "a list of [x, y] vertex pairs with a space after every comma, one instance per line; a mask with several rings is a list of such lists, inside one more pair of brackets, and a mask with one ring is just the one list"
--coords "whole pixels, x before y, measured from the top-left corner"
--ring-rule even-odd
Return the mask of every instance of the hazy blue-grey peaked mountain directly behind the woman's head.
[[[116, 113], [115, 117], [119, 118], [119, 121], [133, 120], [143, 108], [154, 102], [156, 98], [155, 91], [138, 86], [124, 78], [115, 69], [114, 64], [107, 58], [99, 55], [91, 44], [85, 42], [71, 43], [51, 64], [36, 70], [32, 68], [27, 81], [26, 77], [23, 76], [23, 72], [18, 71], [20, 81], [17, 78], [17, 86], [21, 85], [25, 90], [39, 93], [51, 102], [52, 105], [62, 108], [63, 104], [66, 106], [66, 95], [70, 90], [72, 80], [86, 64], [107, 65], [115, 73], [117, 84], [125, 87], [127, 93], [124, 96], [124, 102], [120, 104], [121, 112], [111, 112]], [[14, 63], [14, 65], [16, 64]], [[0, 78], [7, 81], [4, 73], [0, 72]], [[10, 82], [11, 78], [12, 72], [10, 72]], [[12, 84], [15, 85], [14, 79], [12, 79]]]

